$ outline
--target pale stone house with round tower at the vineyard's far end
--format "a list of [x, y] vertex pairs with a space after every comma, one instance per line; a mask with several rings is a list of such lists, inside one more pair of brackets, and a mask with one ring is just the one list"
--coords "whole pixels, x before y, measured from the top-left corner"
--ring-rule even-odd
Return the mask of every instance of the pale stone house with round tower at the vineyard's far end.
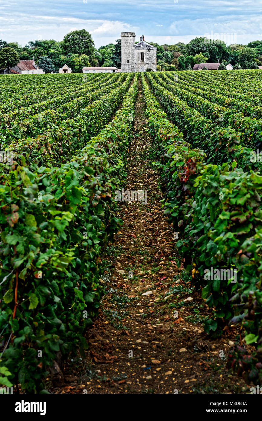
[[135, 44], [135, 32], [121, 32], [122, 72], [156, 72], [156, 47], [146, 43], [144, 35]]

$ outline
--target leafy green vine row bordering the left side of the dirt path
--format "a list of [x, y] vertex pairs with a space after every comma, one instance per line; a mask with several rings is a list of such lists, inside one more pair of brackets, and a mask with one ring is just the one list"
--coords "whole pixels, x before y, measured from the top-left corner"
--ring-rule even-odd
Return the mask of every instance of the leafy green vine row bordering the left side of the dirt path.
[[[122, 101], [114, 120], [68, 163], [35, 171], [17, 163], [9, 172], [0, 168], [0, 331], [5, 342], [13, 336], [0, 366], [26, 392], [42, 391], [58, 352], [66, 357], [87, 346], [83, 335], [102, 294], [101, 251], [120, 223], [114, 192], [126, 175], [128, 117], [138, 92], [137, 75], [128, 90], [133, 77], [121, 91], [112, 88], [111, 112]], [[88, 121], [82, 118], [82, 128]]]

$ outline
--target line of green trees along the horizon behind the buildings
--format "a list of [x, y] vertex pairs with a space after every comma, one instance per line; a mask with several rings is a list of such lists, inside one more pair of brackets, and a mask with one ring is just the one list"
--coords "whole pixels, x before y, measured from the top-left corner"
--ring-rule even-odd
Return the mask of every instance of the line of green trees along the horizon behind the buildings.
[[[159, 45], [157, 48], [157, 70], [192, 69], [198, 63], [221, 63], [221, 69], [232, 64], [235, 69], [258, 69], [262, 66], [262, 40], [247, 45], [226, 45], [221, 40], [196, 37], [188, 44]], [[0, 72], [15, 66], [19, 60], [33, 59], [46, 73], [57, 73], [64, 64], [73, 72], [82, 72], [83, 67], [121, 68], [121, 39], [116, 43], [103, 45], [98, 49], [92, 36], [85, 29], [72, 31], [63, 41], [35, 40], [22, 47], [17, 42], [0, 40]]]

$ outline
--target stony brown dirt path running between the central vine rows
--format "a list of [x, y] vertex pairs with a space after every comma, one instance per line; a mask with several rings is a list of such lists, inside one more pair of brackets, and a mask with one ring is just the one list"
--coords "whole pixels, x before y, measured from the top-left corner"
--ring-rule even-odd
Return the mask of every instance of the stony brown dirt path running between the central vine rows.
[[[85, 360], [67, 364], [53, 393], [245, 393], [225, 369], [228, 341], [210, 341], [201, 321], [208, 309], [183, 269], [177, 269], [172, 229], [161, 210], [140, 91], [125, 190], [147, 190], [148, 202], [119, 204], [124, 221], [103, 256], [106, 290], [87, 332]], [[142, 295], [149, 292], [149, 295]], [[183, 301], [189, 298], [188, 301]], [[175, 313], [177, 312], [177, 313]], [[220, 353], [220, 355], [219, 355]]]

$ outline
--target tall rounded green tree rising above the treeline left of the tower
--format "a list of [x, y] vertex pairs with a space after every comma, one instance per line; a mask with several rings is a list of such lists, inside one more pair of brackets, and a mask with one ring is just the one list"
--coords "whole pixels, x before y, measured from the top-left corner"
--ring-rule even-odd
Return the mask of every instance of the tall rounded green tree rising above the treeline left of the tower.
[[95, 44], [90, 33], [85, 29], [66, 34], [62, 46], [66, 54], [85, 54], [89, 57], [90, 62], [94, 58]]

